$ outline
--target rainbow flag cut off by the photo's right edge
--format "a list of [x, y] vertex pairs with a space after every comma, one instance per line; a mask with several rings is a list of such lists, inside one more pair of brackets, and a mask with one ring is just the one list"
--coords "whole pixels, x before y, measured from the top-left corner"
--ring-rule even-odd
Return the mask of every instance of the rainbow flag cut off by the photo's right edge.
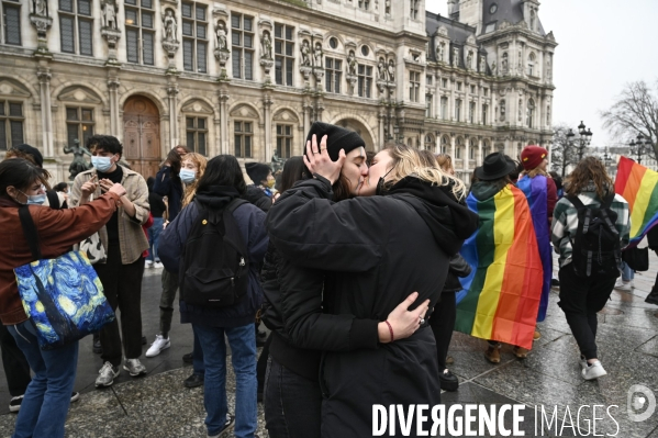
[[634, 247], [658, 223], [658, 172], [622, 157], [614, 191], [628, 202], [631, 242]]

